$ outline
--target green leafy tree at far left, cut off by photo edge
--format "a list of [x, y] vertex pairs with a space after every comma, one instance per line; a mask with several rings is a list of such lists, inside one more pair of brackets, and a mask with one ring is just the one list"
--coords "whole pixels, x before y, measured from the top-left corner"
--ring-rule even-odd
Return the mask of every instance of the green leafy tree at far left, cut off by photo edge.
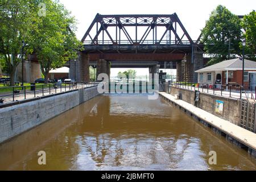
[[28, 39], [31, 27], [30, 0], [0, 1], [0, 55], [5, 59], [5, 69], [14, 86], [16, 67], [20, 63], [22, 41]]

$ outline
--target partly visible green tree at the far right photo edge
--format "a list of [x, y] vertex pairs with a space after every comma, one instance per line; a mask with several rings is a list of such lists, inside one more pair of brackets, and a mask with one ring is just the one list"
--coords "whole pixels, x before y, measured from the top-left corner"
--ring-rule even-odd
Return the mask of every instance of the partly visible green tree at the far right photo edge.
[[249, 15], [243, 16], [242, 27], [245, 30], [243, 35], [246, 39], [245, 56], [256, 61], [256, 12], [251, 11]]

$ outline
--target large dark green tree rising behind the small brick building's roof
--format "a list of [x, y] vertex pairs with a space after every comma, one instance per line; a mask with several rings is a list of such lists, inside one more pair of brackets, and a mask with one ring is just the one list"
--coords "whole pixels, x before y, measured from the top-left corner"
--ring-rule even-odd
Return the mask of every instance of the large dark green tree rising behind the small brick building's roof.
[[208, 64], [228, 59], [229, 42], [232, 54], [241, 54], [241, 38], [241, 20], [225, 6], [218, 5], [202, 30], [201, 42], [205, 44], [204, 49], [214, 56]]

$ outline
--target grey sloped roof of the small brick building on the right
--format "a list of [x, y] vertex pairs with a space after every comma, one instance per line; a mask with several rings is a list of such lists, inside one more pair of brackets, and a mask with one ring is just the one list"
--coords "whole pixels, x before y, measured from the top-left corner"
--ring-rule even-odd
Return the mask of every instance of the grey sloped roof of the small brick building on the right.
[[[217, 64], [210, 65], [196, 71], [199, 72], [210, 72], [210, 71], [234, 71], [242, 70], [243, 61], [239, 58], [222, 61]], [[256, 70], [256, 62], [245, 59], [245, 70]]]

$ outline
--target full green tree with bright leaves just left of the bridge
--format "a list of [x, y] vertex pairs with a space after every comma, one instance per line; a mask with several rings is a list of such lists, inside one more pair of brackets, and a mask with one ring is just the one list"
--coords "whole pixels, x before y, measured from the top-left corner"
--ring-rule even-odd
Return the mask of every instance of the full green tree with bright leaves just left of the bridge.
[[44, 3], [45, 16], [39, 16], [38, 9], [34, 11], [29, 47], [38, 58], [47, 84], [49, 71], [63, 66], [69, 59], [76, 59], [82, 43], [72, 32], [76, 30], [76, 20], [69, 11], [59, 1]]

